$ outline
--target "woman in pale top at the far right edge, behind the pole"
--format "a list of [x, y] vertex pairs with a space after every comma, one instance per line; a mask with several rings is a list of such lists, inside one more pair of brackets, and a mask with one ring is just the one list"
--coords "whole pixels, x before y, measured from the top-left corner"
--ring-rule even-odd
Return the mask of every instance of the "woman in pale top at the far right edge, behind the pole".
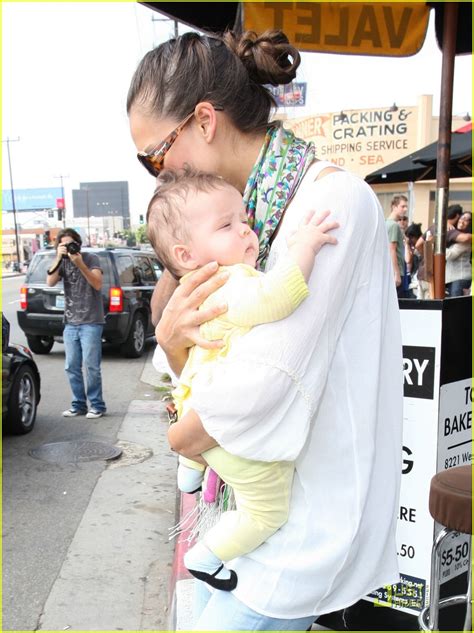
[[[463, 213], [456, 225], [461, 233], [472, 233], [472, 215]], [[446, 249], [446, 292], [449, 297], [469, 294], [472, 283], [472, 240], [453, 243]]]

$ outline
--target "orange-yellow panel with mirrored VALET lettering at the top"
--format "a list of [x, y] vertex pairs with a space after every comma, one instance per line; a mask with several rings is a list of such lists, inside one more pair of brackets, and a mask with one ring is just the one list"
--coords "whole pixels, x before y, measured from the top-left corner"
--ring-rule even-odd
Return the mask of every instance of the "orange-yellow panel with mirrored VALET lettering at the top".
[[281, 29], [299, 50], [403, 57], [423, 45], [424, 2], [243, 2], [244, 28]]

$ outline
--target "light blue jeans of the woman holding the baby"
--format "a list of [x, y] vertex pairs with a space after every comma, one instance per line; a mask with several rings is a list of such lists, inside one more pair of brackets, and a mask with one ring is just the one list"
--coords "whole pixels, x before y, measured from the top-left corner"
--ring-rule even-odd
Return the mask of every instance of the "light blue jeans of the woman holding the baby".
[[306, 631], [315, 615], [282, 620], [252, 611], [229, 591], [215, 590], [195, 581], [195, 631]]

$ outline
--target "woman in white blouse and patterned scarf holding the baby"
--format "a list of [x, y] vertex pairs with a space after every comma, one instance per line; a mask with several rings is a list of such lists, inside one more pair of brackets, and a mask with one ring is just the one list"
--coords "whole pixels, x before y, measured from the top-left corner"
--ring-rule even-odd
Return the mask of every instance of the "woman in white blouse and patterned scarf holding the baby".
[[[243, 458], [295, 462], [287, 524], [233, 561], [237, 588], [207, 595], [196, 630], [304, 630], [398, 581], [402, 358], [385, 224], [362, 180], [269, 124], [265, 84], [289, 83], [299, 61], [279, 31], [187, 33], [145, 55], [127, 100], [152, 174], [189, 163], [244, 194], [262, 268], [285, 252], [308, 210], [330, 208], [341, 227], [338, 246], [318, 255], [306, 305], [239, 341], [212, 386], [195, 391], [197, 420], [174, 438], [188, 457], [219, 444]], [[160, 281], [156, 335], [178, 373], [191, 345], [209, 347], [199, 324], [226, 309], [198, 311], [225, 283], [215, 270], [205, 266], [174, 292], [170, 275]]]

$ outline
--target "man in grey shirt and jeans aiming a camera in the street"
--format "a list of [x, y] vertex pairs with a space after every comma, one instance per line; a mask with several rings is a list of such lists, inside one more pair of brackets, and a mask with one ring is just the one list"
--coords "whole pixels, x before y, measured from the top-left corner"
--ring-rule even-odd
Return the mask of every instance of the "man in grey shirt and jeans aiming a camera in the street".
[[[63, 412], [66, 418], [86, 415], [100, 418], [106, 407], [102, 398], [102, 270], [93, 253], [81, 253], [82, 239], [74, 229], [63, 229], [56, 237], [56, 259], [48, 270], [46, 283], [55, 286], [64, 282], [64, 347], [66, 374], [72, 390], [71, 408]], [[84, 389], [82, 363], [87, 380]], [[90, 409], [87, 410], [87, 400]]]

